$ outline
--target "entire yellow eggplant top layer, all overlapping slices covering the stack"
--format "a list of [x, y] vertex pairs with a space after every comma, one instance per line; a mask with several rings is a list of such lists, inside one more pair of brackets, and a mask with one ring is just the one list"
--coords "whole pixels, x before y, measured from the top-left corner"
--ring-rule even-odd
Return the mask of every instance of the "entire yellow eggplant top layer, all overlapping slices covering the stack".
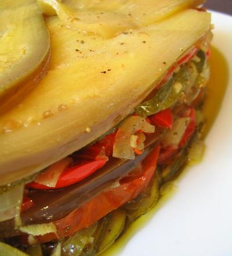
[[0, 4], [1, 185], [133, 113], [211, 24], [194, 0], [38, 2]]

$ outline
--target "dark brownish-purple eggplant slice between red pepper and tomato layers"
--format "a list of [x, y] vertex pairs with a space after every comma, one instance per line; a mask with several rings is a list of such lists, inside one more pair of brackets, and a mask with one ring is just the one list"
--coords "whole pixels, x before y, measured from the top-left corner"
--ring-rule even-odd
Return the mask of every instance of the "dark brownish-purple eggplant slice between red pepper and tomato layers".
[[73, 186], [59, 190], [31, 190], [28, 196], [35, 204], [21, 212], [23, 225], [49, 223], [64, 218], [131, 172], [156, 144], [146, 147], [143, 154], [133, 160], [111, 158], [102, 169]]

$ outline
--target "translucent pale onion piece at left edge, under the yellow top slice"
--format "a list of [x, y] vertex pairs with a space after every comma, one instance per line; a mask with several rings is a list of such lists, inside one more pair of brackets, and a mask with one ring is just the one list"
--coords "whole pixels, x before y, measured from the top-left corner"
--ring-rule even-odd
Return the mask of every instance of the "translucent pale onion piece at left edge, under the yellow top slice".
[[19, 216], [24, 184], [0, 195], [0, 222]]

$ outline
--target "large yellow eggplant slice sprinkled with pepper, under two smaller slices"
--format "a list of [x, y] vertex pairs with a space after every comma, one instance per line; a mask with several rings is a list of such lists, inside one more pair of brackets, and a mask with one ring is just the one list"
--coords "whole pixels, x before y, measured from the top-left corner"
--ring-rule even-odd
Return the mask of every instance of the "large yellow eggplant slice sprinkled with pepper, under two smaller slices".
[[0, 185], [38, 172], [117, 125], [210, 23], [209, 13], [187, 9], [106, 40], [48, 18], [48, 74], [0, 117]]

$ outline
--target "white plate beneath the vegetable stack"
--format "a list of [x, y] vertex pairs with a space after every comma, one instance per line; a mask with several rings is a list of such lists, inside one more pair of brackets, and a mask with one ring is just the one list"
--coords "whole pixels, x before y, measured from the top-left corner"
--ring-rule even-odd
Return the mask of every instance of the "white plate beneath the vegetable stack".
[[181, 177], [176, 193], [122, 248], [121, 256], [232, 255], [232, 16], [212, 12], [212, 23], [213, 45], [227, 59], [230, 77], [204, 159]]

